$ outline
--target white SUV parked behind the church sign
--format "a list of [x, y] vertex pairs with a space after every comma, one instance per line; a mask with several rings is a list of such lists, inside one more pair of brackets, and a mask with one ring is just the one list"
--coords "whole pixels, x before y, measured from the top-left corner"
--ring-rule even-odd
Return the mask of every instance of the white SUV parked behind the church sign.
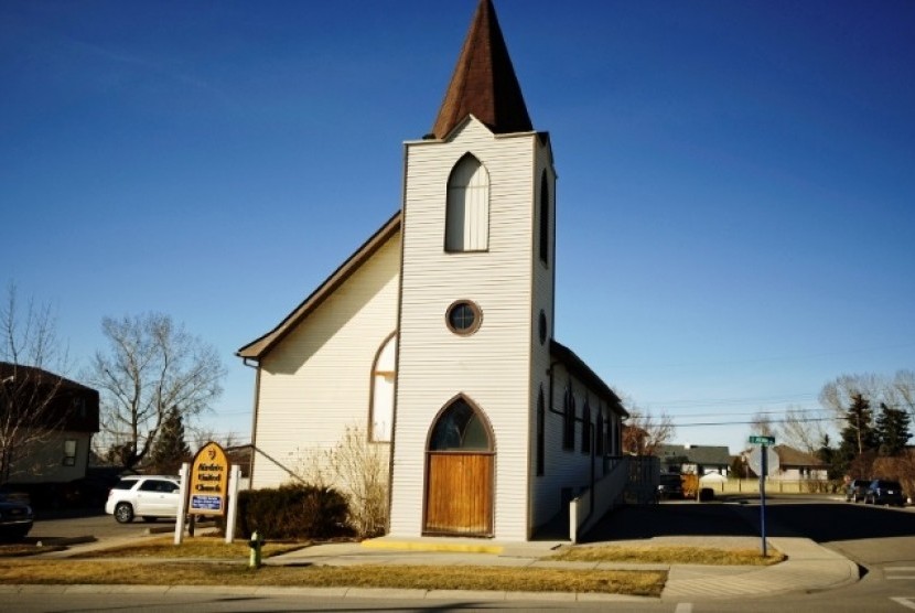
[[176, 476], [125, 476], [108, 492], [105, 513], [114, 515], [119, 524], [129, 524], [134, 517], [143, 521], [176, 517], [180, 491]]

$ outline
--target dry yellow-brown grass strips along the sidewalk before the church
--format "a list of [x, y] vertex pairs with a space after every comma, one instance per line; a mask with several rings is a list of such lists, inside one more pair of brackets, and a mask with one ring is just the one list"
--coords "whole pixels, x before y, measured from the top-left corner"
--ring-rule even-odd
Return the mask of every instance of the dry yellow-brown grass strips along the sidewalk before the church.
[[[21, 555], [22, 549], [30, 546], [17, 547]], [[263, 546], [263, 557], [303, 547], [308, 544], [268, 542]], [[247, 567], [248, 555], [247, 541], [227, 545], [216, 537], [187, 538], [180, 546], [175, 546], [171, 537], [152, 538], [130, 546], [87, 551], [63, 560], [12, 557], [12, 553], [0, 549], [0, 583], [363, 587], [658, 596], [667, 580], [667, 572], [643, 570], [369, 564], [268, 566], [255, 570]], [[119, 558], [130, 558], [129, 568], [119, 563]], [[149, 558], [149, 563], [140, 561], [142, 558]], [[769, 551], [769, 556], [763, 558], [755, 550], [610, 545], [571, 547], [547, 559], [661, 564], [772, 564], [784, 558], [777, 551]], [[200, 559], [222, 563], [201, 563], [196, 561]]]

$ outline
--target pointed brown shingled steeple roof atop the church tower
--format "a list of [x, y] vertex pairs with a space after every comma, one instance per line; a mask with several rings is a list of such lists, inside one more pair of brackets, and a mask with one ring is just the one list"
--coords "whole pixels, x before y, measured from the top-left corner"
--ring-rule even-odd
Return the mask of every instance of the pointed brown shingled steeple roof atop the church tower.
[[480, 0], [432, 135], [444, 139], [470, 114], [495, 133], [534, 129], [492, 0]]

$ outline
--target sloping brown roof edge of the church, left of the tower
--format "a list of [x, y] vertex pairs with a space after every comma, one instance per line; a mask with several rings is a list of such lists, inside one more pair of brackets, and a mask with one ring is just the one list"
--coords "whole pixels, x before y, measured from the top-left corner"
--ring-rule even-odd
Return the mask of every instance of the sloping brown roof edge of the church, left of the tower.
[[362, 247], [344, 261], [321, 286], [314, 290], [301, 304], [283, 319], [270, 332], [251, 341], [235, 355], [243, 358], [260, 359], [263, 354], [279, 343], [299, 322], [311, 314], [321, 303], [324, 302], [340, 286], [342, 286], [359, 267], [368, 261], [394, 235], [400, 232], [401, 215], [398, 211], [385, 225], [366, 240]]

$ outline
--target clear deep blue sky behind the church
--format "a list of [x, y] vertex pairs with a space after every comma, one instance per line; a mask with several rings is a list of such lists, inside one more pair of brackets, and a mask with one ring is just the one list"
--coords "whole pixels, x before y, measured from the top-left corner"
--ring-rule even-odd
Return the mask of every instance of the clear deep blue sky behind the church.
[[[105, 315], [183, 322], [248, 440], [235, 352], [399, 208], [475, 6], [0, 2], [0, 282], [77, 370]], [[735, 452], [915, 368], [915, 2], [495, 6], [553, 142], [556, 336], [611, 387]]]

